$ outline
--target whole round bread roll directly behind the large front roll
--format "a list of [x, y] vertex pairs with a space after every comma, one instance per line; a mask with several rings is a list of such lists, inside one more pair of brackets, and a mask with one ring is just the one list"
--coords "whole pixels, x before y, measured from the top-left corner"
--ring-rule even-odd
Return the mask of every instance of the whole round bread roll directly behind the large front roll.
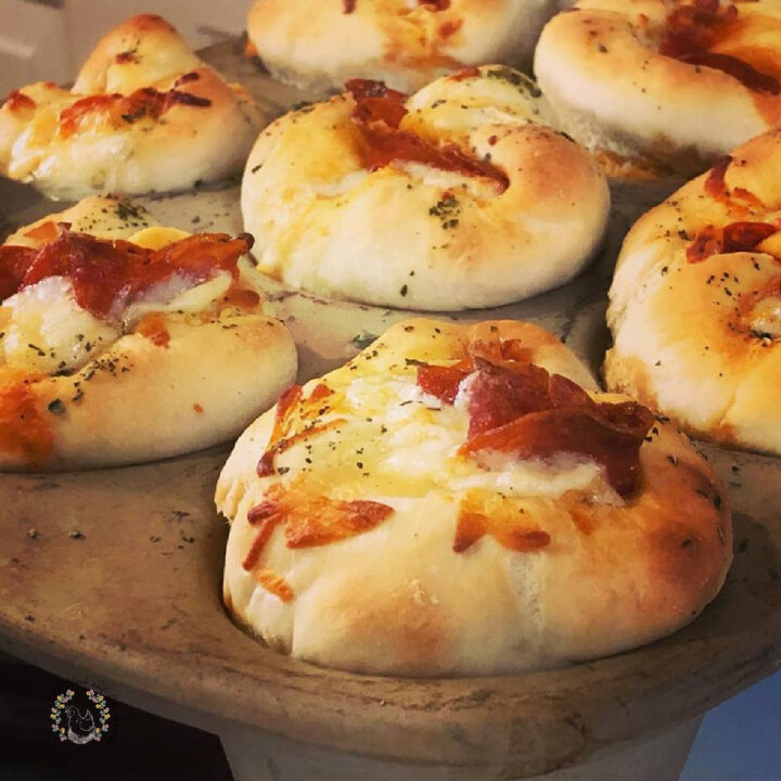
[[572, 279], [599, 246], [604, 177], [545, 125], [536, 85], [471, 68], [405, 101], [376, 81], [277, 119], [242, 182], [261, 271], [406, 309], [498, 306]]

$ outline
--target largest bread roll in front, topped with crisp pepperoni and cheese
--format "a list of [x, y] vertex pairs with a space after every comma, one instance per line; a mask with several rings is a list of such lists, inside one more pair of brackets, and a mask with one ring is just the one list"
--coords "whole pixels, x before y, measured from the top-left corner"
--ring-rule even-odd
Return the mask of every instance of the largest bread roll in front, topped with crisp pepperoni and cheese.
[[689, 623], [731, 559], [725, 488], [594, 387], [536, 325], [394, 325], [239, 439], [216, 495], [229, 611], [294, 657], [410, 676], [554, 667]]

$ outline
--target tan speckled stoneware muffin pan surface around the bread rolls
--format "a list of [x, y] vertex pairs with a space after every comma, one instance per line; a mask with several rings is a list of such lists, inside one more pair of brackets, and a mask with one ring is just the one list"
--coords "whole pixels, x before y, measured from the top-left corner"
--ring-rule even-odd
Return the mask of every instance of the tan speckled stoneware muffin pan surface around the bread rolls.
[[[299, 99], [263, 77], [240, 42], [207, 55], [278, 111]], [[460, 318], [538, 322], [597, 371], [620, 240], [671, 187], [615, 191], [605, 247], [579, 280]], [[241, 229], [235, 184], [145, 203], [182, 229]], [[26, 188], [0, 184], [5, 228], [47, 210]], [[342, 363], [356, 337], [406, 315], [265, 284], [299, 345], [300, 379]], [[0, 475], [0, 648], [192, 720], [229, 719], [379, 757], [489, 765], [502, 778], [540, 774], [681, 724], [781, 666], [781, 464], [703, 450], [735, 510], [727, 585], [690, 627], [615, 657], [516, 677], [413, 680], [320, 669], [264, 649], [220, 602], [227, 527], [212, 497], [228, 446], [92, 473]]]

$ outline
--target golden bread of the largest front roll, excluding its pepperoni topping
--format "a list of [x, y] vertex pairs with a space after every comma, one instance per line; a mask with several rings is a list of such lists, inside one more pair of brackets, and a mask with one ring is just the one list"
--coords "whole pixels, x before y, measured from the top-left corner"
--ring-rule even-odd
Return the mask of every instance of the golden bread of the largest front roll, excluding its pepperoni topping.
[[[258, 477], [274, 427], [269, 411], [228, 460], [216, 501], [232, 522], [223, 593], [240, 624], [272, 648], [325, 666], [491, 675], [649, 642], [690, 622], [716, 596], [731, 560], [728, 500], [670, 426], [650, 432], [640, 488], [624, 501], [605, 494], [601, 478], [590, 482], [596, 473], [579, 471], [591, 469], [584, 462], [534, 473], [528, 462], [479, 469], [458, 460], [464, 410], [426, 410], [409, 388], [420, 362], [451, 366], [475, 340], [520, 340], [530, 360], [594, 387], [572, 353], [528, 323], [394, 325], [354, 361], [305, 386], [305, 399], [323, 384], [333, 392], [318, 401], [329, 411], [308, 420], [338, 419], [336, 433], [290, 447], [278, 456], [276, 474]], [[393, 513], [313, 548], [289, 547], [281, 522], [257, 564], [244, 568], [259, 529], [247, 513], [281, 490], [377, 502]], [[459, 518], [475, 507], [498, 536], [490, 532], [457, 552]], [[504, 547], [501, 529], [518, 523], [549, 535], [549, 543], [526, 552]], [[291, 593], [281, 599], [267, 590], [255, 566], [282, 577]]]

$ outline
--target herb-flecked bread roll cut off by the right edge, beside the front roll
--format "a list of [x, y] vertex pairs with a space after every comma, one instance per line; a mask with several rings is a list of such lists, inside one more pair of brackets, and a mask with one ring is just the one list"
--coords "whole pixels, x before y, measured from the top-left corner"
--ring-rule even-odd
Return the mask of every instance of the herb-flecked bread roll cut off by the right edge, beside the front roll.
[[644, 215], [610, 291], [611, 388], [708, 439], [781, 453], [781, 133]]

